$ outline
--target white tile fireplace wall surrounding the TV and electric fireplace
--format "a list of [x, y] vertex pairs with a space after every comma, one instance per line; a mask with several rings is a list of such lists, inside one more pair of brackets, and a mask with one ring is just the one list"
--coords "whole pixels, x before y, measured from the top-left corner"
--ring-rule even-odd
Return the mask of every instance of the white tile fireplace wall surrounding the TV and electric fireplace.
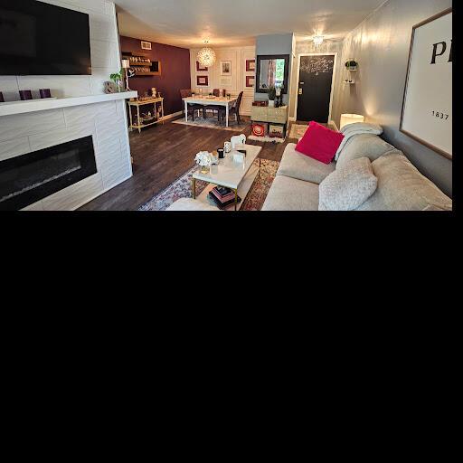
[[[0, 76], [6, 101], [24, 89], [51, 89], [58, 98], [104, 93], [109, 74], [119, 71], [115, 5], [108, 0], [39, 0], [90, 15], [91, 76]], [[74, 210], [132, 175], [126, 102], [52, 109], [0, 118], [0, 161], [80, 137], [93, 137], [98, 174], [31, 204], [27, 211]]]

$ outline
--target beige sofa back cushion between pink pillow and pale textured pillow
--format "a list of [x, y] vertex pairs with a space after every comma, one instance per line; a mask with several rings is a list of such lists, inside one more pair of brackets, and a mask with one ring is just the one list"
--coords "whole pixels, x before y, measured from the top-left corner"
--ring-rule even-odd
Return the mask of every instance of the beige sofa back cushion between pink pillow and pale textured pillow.
[[395, 150], [395, 147], [377, 135], [356, 135], [345, 144], [337, 160], [336, 169], [344, 167], [349, 161], [359, 157], [368, 157], [373, 162], [392, 150]]

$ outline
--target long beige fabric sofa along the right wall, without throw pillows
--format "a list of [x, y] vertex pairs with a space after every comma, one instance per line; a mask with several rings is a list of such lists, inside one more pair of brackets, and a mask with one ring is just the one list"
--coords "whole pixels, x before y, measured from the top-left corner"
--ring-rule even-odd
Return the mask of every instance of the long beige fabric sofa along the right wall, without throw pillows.
[[402, 151], [381, 137], [363, 134], [350, 139], [337, 163], [330, 165], [301, 155], [295, 144], [288, 144], [262, 211], [318, 211], [319, 184], [360, 157], [372, 162], [378, 187], [357, 211], [452, 210], [452, 200], [421, 175]]

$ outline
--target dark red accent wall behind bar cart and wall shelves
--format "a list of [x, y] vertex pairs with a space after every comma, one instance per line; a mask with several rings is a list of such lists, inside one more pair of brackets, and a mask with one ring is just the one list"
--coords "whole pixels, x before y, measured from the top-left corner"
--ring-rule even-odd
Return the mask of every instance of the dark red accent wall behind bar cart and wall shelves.
[[156, 87], [164, 97], [164, 112], [174, 114], [183, 109], [180, 90], [190, 89], [190, 51], [185, 48], [151, 43], [152, 50], [142, 50], [141, 40], [120, 37], [121, 52], [140, 53], [153, 61], [161, 61], [160, 76], [132, 77], [128, 80], [131, 90], [143, 96], [146, 90]]

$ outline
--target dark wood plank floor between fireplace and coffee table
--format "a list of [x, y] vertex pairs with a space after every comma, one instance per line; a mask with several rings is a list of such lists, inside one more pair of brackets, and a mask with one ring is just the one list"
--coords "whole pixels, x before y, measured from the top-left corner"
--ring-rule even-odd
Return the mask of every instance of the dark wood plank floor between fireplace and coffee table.
[[[250, 128], [244, 133], [249, 136]], [[141, 205], [192, 168], [196, 153], [213, 151], [222, 147], [232, 136], [240, 134], [241, 131], [195, 128], [170, 121], [164, 126], [145, 128], [141, 134], [138, 131], [131, 132], [133, 177], [85, 204], [80, 211], [137, 211]], [[297, 141], [287, 139], [285, 143], [273, 144], [249, 140], [247, 143], [262, 146], [261, 158], [280, 161], [288, 143]]]

